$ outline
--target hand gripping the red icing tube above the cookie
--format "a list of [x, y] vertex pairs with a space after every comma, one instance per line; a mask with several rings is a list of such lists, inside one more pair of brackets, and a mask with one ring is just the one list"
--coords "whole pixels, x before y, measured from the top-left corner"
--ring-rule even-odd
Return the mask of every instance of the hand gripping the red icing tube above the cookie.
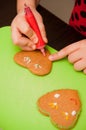
[[[45, 43], [47, 43], [46, 32], [41, 15], [32, 9], [32, 12], [37, 20], [41, 35]], [[36, 44], [38, 42], [37, 35], [31, 29], [30, 25], [25, 19], [25, 13], [20, 12], [14, 18], [11, 24], [12, 29], [12, 40], [15, 45], [18, 45], [22, 50], [32, 51], [36, 49]]]

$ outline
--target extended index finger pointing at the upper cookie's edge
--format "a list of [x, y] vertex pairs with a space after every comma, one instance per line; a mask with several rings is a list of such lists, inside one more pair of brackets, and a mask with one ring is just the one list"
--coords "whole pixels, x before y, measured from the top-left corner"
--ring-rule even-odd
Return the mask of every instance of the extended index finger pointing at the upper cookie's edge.
[[79, 49], [79, 46], [77, 46], [77, 43], [73, 43], [73, 44], [63, 48], [59, 52], [50, 55], [49, 59], [52, 61], [62, 59], [78, 49]]

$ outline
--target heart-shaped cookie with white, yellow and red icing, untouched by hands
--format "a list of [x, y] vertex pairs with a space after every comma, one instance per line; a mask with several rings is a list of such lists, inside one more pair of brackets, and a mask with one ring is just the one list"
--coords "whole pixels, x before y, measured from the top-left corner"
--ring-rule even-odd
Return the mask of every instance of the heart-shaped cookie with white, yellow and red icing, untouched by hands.
[[37, 105], [55, 126], [64, 130], [74, 126], [81, 111], [78, 92], [71, 89], [49, 92], [38, 99]]

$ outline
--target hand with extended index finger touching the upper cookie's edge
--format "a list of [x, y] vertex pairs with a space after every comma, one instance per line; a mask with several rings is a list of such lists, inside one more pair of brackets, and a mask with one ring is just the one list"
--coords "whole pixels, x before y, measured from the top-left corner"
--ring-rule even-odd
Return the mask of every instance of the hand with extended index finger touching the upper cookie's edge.
[[66, 56], [68, 56], [69, 62], [74, 64], [75, 70], [83, 70], [86, 74], [86, 40], [78, 41], [63, 48], [59, 52], [49, 56], [49, 59], [55, 61]]

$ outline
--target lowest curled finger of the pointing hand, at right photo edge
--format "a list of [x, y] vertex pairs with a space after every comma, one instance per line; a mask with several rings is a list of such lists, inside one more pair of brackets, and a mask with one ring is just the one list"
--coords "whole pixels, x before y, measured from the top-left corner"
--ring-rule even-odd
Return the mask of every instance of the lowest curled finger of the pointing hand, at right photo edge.
[[86, 60], [81, 59], [74, 63], [74, 69], [77, 71], [84, 70], [86, 68]]

